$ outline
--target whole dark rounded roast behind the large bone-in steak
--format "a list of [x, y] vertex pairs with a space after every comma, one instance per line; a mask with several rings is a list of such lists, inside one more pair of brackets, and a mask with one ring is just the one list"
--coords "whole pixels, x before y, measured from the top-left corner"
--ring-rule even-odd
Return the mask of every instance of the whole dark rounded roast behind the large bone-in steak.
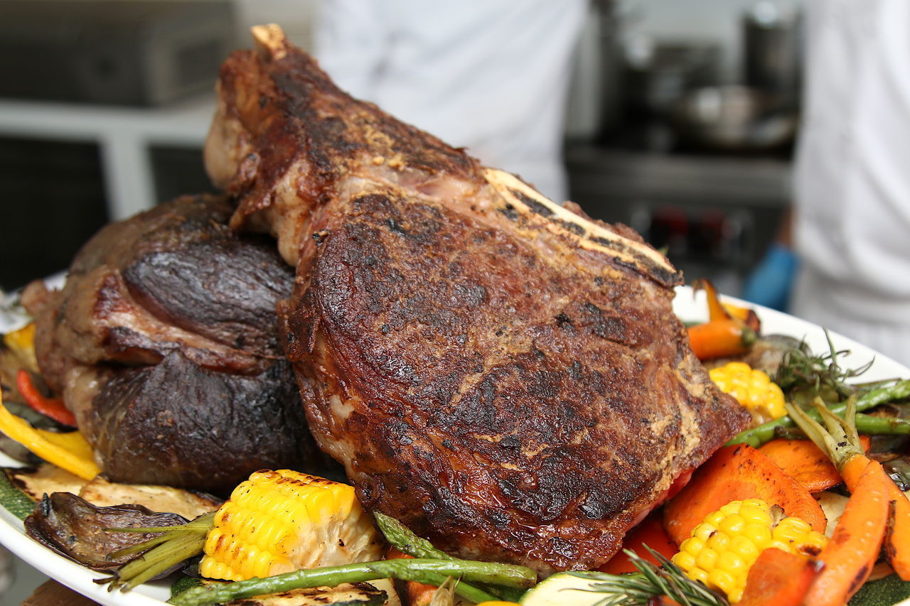
[[262, 468], [309, 469], [275, 305], [274, 241], [227, 227], [224, 197], [181, 197], [104, 227], [66, 286], [24, 302], [35, 353], [111, 480], [226, 493]]

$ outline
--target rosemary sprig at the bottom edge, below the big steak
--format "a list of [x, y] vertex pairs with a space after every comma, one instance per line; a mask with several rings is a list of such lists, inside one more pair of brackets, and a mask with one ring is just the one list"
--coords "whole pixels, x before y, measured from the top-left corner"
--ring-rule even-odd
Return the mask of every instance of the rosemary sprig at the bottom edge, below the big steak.
[[632, 574], [606, 572], [571, 572], [570, 574], [591, 583], [585, 591], [603, 593], [596, 606], [648, 606], [657, 597], [666, 596], [681, 606], [730, 606], [720, 593], [705, 587], [699, 581], [685, 576], [678, 566], [647, 545], [644, 549], [660, 562], [655, 566], [631, 550], [623, 550], [638, 569]]

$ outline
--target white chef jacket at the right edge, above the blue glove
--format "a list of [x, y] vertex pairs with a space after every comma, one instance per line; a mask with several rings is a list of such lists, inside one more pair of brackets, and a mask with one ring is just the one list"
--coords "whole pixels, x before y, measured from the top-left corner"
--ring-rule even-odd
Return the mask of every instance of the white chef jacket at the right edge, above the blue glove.
[[910, 366], [910, 2], [806, 17], [791, 309]]

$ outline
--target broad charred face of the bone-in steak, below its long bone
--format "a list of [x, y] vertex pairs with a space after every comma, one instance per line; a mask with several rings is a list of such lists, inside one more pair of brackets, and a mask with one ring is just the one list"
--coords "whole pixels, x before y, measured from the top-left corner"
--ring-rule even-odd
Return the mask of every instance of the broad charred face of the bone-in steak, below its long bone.
[[356, 198], [319, 247], [306, 293], [279, 307], [315, 386], [311, 427], [368, 508], [443, 549], [596, 566], [743, 426], [672, 290], [608, 260], [567, 271], [470, 216], [382, 195]]

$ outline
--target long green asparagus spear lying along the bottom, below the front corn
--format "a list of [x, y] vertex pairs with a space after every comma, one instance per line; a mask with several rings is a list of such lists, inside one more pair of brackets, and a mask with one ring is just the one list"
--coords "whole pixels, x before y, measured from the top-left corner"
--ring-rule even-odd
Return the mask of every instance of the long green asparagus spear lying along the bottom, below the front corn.
[[[375, 581], [394, 578], [401, 581], [417, 581], [438, 584], [441, 577], [453, 577], [464, 581], [480, 581], [510, 587], [531, 587], [537, 581], [537, 574], [530, 568], [511, 564], [497, 564], [485, 561], [449, 560], [381, 560], [329, 566], [308, 571], [294, 571], [278, 574], [266, 579], [249, 579], [230, 583], [217, 583], [192, 587], [170, 599], [177, 606], [202, 606], [220, 604], [226, 601], [249, 598], [254, 595], [278, 593], [310, 587], [336, 587], [341, 583]], [[469, 590], [464, 593], [464, 583], [459, 582], [455, 591], [470, 601], [486, 601], [491, 596], [478, 595]], [[470, 586], [469, 586], [470, 587]], [[471, 588], [479, 591], [477, 588]]]

